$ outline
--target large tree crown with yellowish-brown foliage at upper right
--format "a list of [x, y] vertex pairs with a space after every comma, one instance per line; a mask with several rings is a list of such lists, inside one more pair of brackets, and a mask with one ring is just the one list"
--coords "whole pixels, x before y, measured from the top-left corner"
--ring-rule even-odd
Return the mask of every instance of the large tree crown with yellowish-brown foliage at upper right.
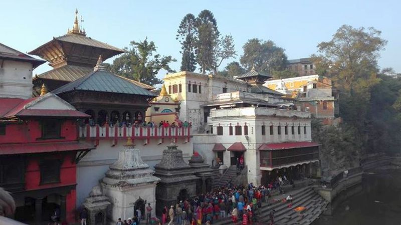
[[[370, 79], [377, 73], [379, 51], [387, 41], [374, 28], [341, 26], [329, 42], [318, 44], [318, 51], [326, 64], [326, 70], [338, 86], [349, 93], [358, 79]], [[374, 82], [374, 81], [373, 81]]]

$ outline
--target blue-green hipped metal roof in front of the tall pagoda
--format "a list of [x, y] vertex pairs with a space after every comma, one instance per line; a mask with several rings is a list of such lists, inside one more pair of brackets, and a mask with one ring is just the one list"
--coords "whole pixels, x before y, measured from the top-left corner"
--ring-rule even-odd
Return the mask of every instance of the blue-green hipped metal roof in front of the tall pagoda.
[[72, 90], [156, 96], [153, 92], [105, 70], [94, 71], [89, 75], [85, 75], [76, 81], [54, 90], [53, 93], [60, 94]]

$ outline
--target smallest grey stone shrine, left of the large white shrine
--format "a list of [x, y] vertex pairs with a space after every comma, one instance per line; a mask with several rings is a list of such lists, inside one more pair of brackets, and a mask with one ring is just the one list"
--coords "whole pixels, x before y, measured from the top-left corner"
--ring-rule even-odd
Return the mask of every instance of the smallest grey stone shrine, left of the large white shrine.
[[106, 225], [107, 206], [110, 205], [108, 197], [104, 196], [102, 188], [96, 185], [89, 193], [89, 197], [85, 198], [83, 203], [88, 210], [89, 225]]

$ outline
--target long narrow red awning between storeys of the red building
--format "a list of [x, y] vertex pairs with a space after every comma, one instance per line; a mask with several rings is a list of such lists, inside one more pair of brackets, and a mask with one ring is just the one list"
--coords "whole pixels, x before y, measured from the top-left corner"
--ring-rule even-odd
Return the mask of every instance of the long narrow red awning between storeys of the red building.
[[92, 144], [79, 141], [2, 144], [0, 145], [0, 155], [89, 150], [94, 148], [95, 147]]

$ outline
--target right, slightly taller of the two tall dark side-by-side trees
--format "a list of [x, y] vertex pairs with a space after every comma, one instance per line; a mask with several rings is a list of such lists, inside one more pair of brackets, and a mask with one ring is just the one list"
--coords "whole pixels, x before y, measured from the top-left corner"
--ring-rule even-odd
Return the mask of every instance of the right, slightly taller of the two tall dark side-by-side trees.
[[213, 71], [216, 65], [216, 55], [220, 32], [215, 16], [209, 10], [203, 10], [196, 19], [198, 38], [196, 41], [196, 61], [200, 72]]

